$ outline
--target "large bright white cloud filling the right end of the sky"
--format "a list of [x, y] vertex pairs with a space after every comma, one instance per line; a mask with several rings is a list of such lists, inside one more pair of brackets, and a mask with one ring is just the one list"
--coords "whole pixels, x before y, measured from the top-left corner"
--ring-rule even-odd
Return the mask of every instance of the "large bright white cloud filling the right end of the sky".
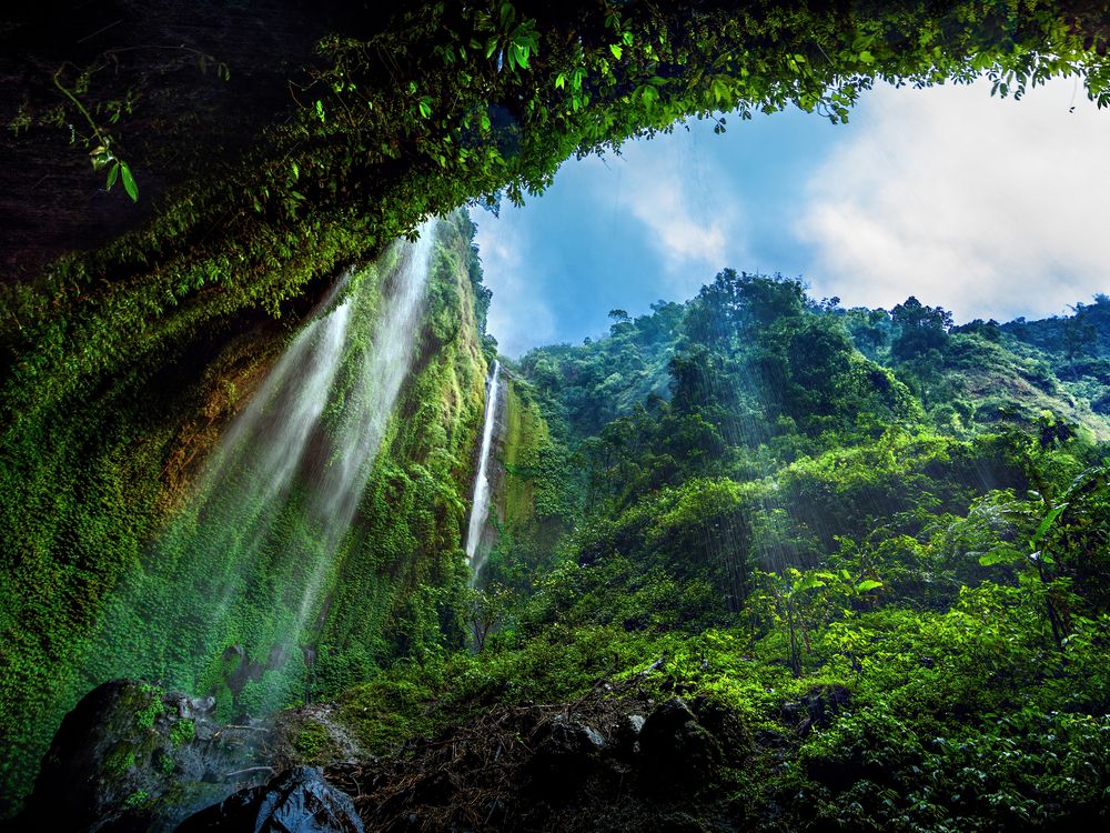
[[814, 248], [815, 293], [888, 308], [916, 294], [957, 319], [1007, 319], [1110, 287], [1110, 116], [1073, 81], [1021, 101], [982, 82], [884, 87], [861, 108], [795, 229]]

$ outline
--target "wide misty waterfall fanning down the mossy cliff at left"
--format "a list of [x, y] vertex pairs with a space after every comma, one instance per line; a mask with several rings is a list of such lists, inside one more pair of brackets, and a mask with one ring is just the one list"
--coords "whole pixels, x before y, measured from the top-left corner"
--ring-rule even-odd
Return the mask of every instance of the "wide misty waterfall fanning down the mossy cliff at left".
[[321, 302], [118, 589], [85, 684], [144, 675], [252, 713], [299, 700], [423, 330], [433, 237], [425, 223]]

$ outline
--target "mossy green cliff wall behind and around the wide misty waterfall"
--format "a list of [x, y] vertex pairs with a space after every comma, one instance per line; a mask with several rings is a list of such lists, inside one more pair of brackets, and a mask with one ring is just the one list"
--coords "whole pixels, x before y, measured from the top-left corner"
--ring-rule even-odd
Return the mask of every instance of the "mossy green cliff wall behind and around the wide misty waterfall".
[[[462, 536], [487, 370], [472, 233], [462, 215], [438, 225], [413, 367], [355, 533], [327, 566], [299, 644], [280, 644], [275, 628], [295, 606], [286, 589], [305, 530], [281, 515], [291, 543], [279, 530], [243, 574], [233, 551], [205, 545], [224, 540], [214, 528], [220, 508], [193, 505], [208, 452], [289, 331], [260, 321], [220, 349], [183, 355], [149, 385], [122, 380], [43, 420], [46, 441], [4, 460], [0, 523], [16, 562], [0, 586], [6, 797], [26, 790], [62, 714], [108, 676], [215, 693], [231, 719], [332, 694], [398, 656], [461, 643], [453, 589], [466, 580]], [[362, 271], [351, 338], [373, 337], [389, 257]], [[214, 588], [225, 593], [218, 610]]]

